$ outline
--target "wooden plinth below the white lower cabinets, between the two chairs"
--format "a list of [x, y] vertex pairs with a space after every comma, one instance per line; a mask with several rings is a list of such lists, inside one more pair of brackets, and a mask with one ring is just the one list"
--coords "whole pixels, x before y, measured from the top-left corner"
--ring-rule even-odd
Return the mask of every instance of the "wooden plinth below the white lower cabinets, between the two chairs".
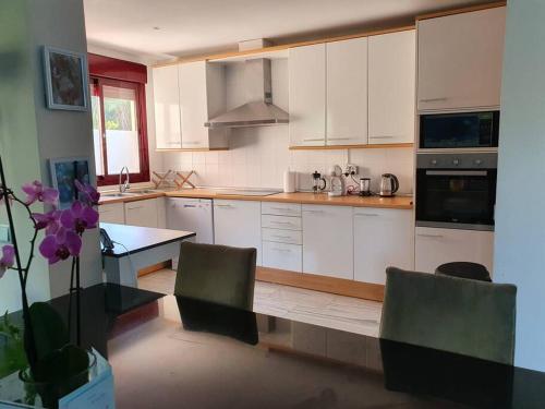
[[365, 300], [384, 300], [384, 286], [378, 284], [360, 282], [268, 267], [257, 267], [255, 278], [259, 281], [276, 282], [284, 286], [356, 297]]

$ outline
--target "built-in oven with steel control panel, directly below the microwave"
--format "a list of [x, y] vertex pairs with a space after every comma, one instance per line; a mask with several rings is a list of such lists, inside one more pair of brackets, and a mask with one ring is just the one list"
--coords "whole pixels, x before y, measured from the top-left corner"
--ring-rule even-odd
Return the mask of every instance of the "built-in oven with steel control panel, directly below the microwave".
[[497, 153], [416, 155], [416, 226], [494, 230]]

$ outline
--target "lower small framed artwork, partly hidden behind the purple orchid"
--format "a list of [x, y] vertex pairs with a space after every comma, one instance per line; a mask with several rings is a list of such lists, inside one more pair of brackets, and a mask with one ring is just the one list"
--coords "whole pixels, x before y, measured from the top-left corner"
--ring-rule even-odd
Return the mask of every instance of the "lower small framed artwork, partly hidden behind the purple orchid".
[[59, 191], [59, 208], [68, 208], [77, 199], [77, 189], [74, 180], [81, 183], [90, 183], [88, 158], [57, 158], [49, 159], [51, 180]]

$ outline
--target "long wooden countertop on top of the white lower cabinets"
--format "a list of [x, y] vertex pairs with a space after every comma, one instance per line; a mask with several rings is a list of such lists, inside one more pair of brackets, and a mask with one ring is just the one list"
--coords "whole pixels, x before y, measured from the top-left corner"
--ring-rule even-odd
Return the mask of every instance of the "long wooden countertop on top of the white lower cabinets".
[[301, 203], [315, 205], [331, 205], [331, 206], [353, 206], [353, 207], [379, 207], [379, 208], [413, 208], [412, 196], [393, 196], [393, 197], [362, 197], [362, 196], [338, 196], [329, 197], [327, 193], [275, 193], [268, 196], [249, 196], [243, 194], [226, 194], [214, 189], [184, 189], [181, 191], [168, 191], [157, 193], [143, 193], [128, 195], [123, 197], [102, 196], [100, 204], [135, 202], [155, 197], [196, 197], [196, 199], [225, 199], [234, 201], [254, 201], [254, 202], [280, 202], [280, 203]]

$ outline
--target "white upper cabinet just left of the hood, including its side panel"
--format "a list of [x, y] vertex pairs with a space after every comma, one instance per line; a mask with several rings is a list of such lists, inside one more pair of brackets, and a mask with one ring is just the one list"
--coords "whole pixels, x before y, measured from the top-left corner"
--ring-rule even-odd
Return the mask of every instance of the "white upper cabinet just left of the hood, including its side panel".
[[180, 117], [182, 148], [227, 147], [226, 130], [204, 124], [225, 109], [223, 68], [205, 61], [180, 64]]

